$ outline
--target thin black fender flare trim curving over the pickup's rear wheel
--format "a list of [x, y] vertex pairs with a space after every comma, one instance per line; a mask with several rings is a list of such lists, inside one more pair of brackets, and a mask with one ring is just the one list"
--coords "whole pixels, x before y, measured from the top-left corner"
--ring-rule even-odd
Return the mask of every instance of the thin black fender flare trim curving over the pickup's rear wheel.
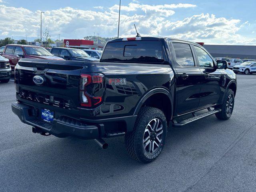
[[142, 105], [144, 104], [144, 102], [152, 95], [154, 94], [158, 94], [158, 93], [162, 93], [165, 94], [166, 96], [168, 96], [170, 103], [171, 103], [171, 118], [173, 115], [173, 98], [172, 95], [170, 94], [170, 92], [168, 90], [166, 90], [165, 88], [154, 88], [149, 90], [148, 92], [146, 92], [142, 98], [140, 98], [140, 100], [138, 101], [138, 103], [136, 104], [136, 108], [134, 110], [134, 115], [138, 115], [140, 108], [142, 107]]

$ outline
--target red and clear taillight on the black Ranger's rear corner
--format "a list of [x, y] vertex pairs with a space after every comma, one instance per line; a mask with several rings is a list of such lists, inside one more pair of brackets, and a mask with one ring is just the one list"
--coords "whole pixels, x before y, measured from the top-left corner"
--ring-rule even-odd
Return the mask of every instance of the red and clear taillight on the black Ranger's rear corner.
[[81, 74], [80, 76], [80, 105], [83, 107], [94, 107], [102, 103], [105, 91], [104, 75]]

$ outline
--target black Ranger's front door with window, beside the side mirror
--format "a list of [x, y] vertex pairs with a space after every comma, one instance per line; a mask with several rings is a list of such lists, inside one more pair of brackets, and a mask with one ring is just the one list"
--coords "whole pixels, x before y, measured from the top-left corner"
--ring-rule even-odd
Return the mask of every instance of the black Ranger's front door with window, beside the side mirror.
[[202, 87], [198, 107], [202, 108], [211, 104], [218, 104], [220, 96], [222, 95], [222, 83], [225, 82], [225, 79], [222, 78], [221, 70], [216, 70], [216, 63], [204, 49], [194, 45], [194, 51], [202, 72]]

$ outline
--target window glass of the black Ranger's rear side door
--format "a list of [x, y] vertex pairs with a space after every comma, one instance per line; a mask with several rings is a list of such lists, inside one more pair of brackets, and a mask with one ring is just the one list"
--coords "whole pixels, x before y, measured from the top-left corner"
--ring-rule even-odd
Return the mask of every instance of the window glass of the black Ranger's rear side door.
[[192, 50], [189, 44], [172, 43], [176, 60], [182, 66], [195, 66]]

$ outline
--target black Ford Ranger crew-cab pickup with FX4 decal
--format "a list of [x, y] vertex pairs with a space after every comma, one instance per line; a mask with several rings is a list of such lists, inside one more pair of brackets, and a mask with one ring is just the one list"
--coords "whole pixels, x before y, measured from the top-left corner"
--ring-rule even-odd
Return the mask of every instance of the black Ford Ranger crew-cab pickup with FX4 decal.
[[230, 118], [236, 74], [199, 44], [173, 38], [109, 41], [100, 62], [21, 59], [12, 111], [34, 133], [95, 139], [125, 135], [130, 156], [151, 162], [167, 128]]

